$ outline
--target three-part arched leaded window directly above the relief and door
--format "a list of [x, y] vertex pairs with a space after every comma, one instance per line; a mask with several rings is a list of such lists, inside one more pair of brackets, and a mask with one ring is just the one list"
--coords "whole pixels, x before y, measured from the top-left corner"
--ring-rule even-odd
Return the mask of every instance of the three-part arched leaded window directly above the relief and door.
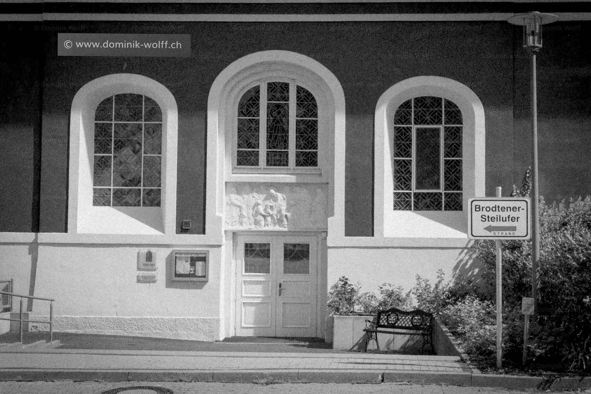
[[318, 106], [293, 82], [264, 82], [238, 104], [236, 167], [318, 167]]

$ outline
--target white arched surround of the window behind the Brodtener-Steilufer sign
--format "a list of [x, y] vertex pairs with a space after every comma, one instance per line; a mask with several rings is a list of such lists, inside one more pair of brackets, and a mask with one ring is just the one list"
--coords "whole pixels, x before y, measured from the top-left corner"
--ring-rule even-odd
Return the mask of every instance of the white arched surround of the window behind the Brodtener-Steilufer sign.
[[[394, 211], [392, 121], [398, 106], [417, 96], [444, 97], [462, 111], [464, 211]], [[438, 76], [398, 82], [382, 94], [376, 105], [374, 153], [374, 237], [467, 238], [467, 199], [485, 195], [485, 116], [476, 93], [463, 83]]]

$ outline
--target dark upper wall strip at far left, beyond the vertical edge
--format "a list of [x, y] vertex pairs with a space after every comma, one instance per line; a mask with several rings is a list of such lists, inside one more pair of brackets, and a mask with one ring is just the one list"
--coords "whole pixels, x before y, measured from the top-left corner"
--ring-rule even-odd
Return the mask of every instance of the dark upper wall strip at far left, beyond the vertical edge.
[[0, 24], [0, 232], [39, 227], [40, 34]]

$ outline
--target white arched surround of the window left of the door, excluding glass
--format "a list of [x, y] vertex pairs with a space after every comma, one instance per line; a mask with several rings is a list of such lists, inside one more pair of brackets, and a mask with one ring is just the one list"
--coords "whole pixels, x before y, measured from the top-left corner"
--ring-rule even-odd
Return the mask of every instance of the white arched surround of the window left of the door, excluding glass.
[[[103, 99], [137, 93], [162, 110], [162, 195], [160, 207], [93, 206], [94, 115]], [[69, 234], [174, 234], [177, 198], [177, 102], [160, 82], [119, 73], [86, 83], [74, 96], [70, 112]]]

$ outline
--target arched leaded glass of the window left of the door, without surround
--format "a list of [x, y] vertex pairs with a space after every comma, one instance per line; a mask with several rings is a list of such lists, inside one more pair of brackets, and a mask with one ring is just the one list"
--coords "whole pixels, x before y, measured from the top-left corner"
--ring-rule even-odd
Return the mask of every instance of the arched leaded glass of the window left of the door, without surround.
[[160, 206], [162, 111], [148, 96], [109, 96], [96, 108], [93, 205]]

